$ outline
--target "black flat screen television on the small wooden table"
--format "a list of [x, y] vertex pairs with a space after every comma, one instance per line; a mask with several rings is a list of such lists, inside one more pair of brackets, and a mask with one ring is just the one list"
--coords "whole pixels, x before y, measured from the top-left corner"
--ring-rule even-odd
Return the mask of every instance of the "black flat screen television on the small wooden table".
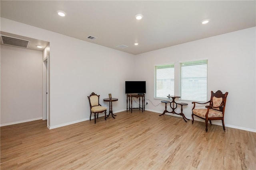
[[146, 81], [126, 81], [125, 93], [146, 93]]

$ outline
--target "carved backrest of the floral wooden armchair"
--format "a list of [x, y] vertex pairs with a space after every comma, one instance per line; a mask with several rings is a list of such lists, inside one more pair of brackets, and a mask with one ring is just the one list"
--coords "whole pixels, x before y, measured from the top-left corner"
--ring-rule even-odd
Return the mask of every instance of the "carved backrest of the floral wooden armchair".
[[212, 109], [221, 111], [224, 114], [227, 96], [228, 96], [228, 92], [226, 92], [225, 94], [222, 94], [220, 90], [218, 90], [215, 93], [211, 91], [210, 106], [222, 105], [218, 108], [212, 108]]

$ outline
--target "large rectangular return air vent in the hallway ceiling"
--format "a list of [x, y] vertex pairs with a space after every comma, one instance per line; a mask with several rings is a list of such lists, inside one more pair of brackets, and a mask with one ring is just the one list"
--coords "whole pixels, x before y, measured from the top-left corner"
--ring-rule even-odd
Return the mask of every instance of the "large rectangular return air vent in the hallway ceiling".
[[14, 37], [8, 37], [6, 35], [1, 35], [1, 44], [12, 45], [15, 47], [28, 48], [30, 41], [25, 39], [18, 39]]

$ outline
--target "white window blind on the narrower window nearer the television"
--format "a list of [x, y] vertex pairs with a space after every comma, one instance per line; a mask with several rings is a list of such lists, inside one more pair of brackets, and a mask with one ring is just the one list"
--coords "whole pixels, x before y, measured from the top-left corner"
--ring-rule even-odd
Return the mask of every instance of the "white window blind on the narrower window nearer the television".
[[155, 66], [154, 97], [174, 96], [174, 64]]

